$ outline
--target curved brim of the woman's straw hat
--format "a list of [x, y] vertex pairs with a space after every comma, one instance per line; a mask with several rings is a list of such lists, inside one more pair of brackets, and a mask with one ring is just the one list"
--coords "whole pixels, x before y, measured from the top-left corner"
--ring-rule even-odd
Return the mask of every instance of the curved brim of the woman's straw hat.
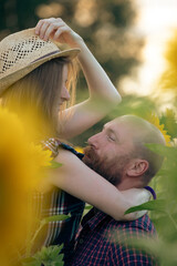
[[25, 68], [21, 68], [18, 71], [0, 79], [0, 96], [8, 89], [10, 85], [19, 81], [20, 79], [24, 78], [31, 71], [40, 66], [41, 64], [55, 59], [55, 58], [69, 58], [74, 59], [80, 52], [80, 49], [69, 49], [64, 51], [56, 51], [55, 53], [45, 54], [44, 57], [40, 58], [39, 60], [33, 61], [32, 63], [28, 64]]

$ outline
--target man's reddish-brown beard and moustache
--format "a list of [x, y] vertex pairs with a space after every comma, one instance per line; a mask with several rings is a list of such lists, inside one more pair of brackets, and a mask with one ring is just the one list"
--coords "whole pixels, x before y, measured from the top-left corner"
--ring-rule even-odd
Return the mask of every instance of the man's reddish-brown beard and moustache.
[[100, 158], [92, 146], [86, 146], [84, 149], [83, 162], [110, 183], [117, 186], [122, 182], [123, 170], [125, 163], [127, 163], [127, 156], [115, 157], [112, 161], [106, 158], [106, 156]]

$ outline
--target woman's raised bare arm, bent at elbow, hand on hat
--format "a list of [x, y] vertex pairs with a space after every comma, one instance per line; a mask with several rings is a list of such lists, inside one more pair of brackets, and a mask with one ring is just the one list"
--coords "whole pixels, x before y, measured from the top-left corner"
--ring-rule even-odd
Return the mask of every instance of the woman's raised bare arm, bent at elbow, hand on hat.
[[35, 27], [35, 33], [44, 40], [51, 38], [54, 41], [81, 50], [77, 59], [87, 82], [90, 98], [64, 111], [65, 113], [70, 111], [73, 113], [64, 124], [62, 133], [64, 139], [71, 139], [81, 134], [106, 115], [121, 102], [121, 95], [83, 39], [62, 19], [40, 20]]

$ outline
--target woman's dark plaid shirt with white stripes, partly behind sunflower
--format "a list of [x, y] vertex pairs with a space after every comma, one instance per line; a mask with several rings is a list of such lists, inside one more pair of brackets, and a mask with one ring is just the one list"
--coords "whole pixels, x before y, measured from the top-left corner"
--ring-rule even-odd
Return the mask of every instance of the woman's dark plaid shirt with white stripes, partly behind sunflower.
[[[44, 150], [49, 149], [52, 151], [53, 157], [59, 154], [60, 147], [69, 150], [81, 160], [83, 157], [83, 154], [77, 153], [74, 149], [61, 143], [56, 139], [42, 142], [42, 145]], [[64, 254], [67, 256], [67, 253], [73, 248], [72, 241], [75, 238], [85, 203], [58, 187], [44, 194], [37, 192], [34, 193], [33, 200], [35, 215], [40, 219], [60, 214], [71, 215], [71, 217], [65, 221], [50, 222], [44, 226], [35, 239], [34, 250], [41, 246], [60, 245], [64, 243]]]

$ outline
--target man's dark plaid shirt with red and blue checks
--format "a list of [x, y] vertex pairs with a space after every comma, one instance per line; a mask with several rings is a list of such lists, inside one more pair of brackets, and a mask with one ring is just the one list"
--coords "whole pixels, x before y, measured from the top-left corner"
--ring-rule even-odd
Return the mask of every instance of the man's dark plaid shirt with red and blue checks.
[[[69, 266], [152, 266], [155, 258], [126, 245], [129, 238], [154, 237], [155, 228], [147, 215], [133, 222], [116, 222], [92, 208], [82, 221], [74, 256]], [[122, 238], [124, 237], [124, 238]], [[124, 244], [121, 244], [124, 239]]]

